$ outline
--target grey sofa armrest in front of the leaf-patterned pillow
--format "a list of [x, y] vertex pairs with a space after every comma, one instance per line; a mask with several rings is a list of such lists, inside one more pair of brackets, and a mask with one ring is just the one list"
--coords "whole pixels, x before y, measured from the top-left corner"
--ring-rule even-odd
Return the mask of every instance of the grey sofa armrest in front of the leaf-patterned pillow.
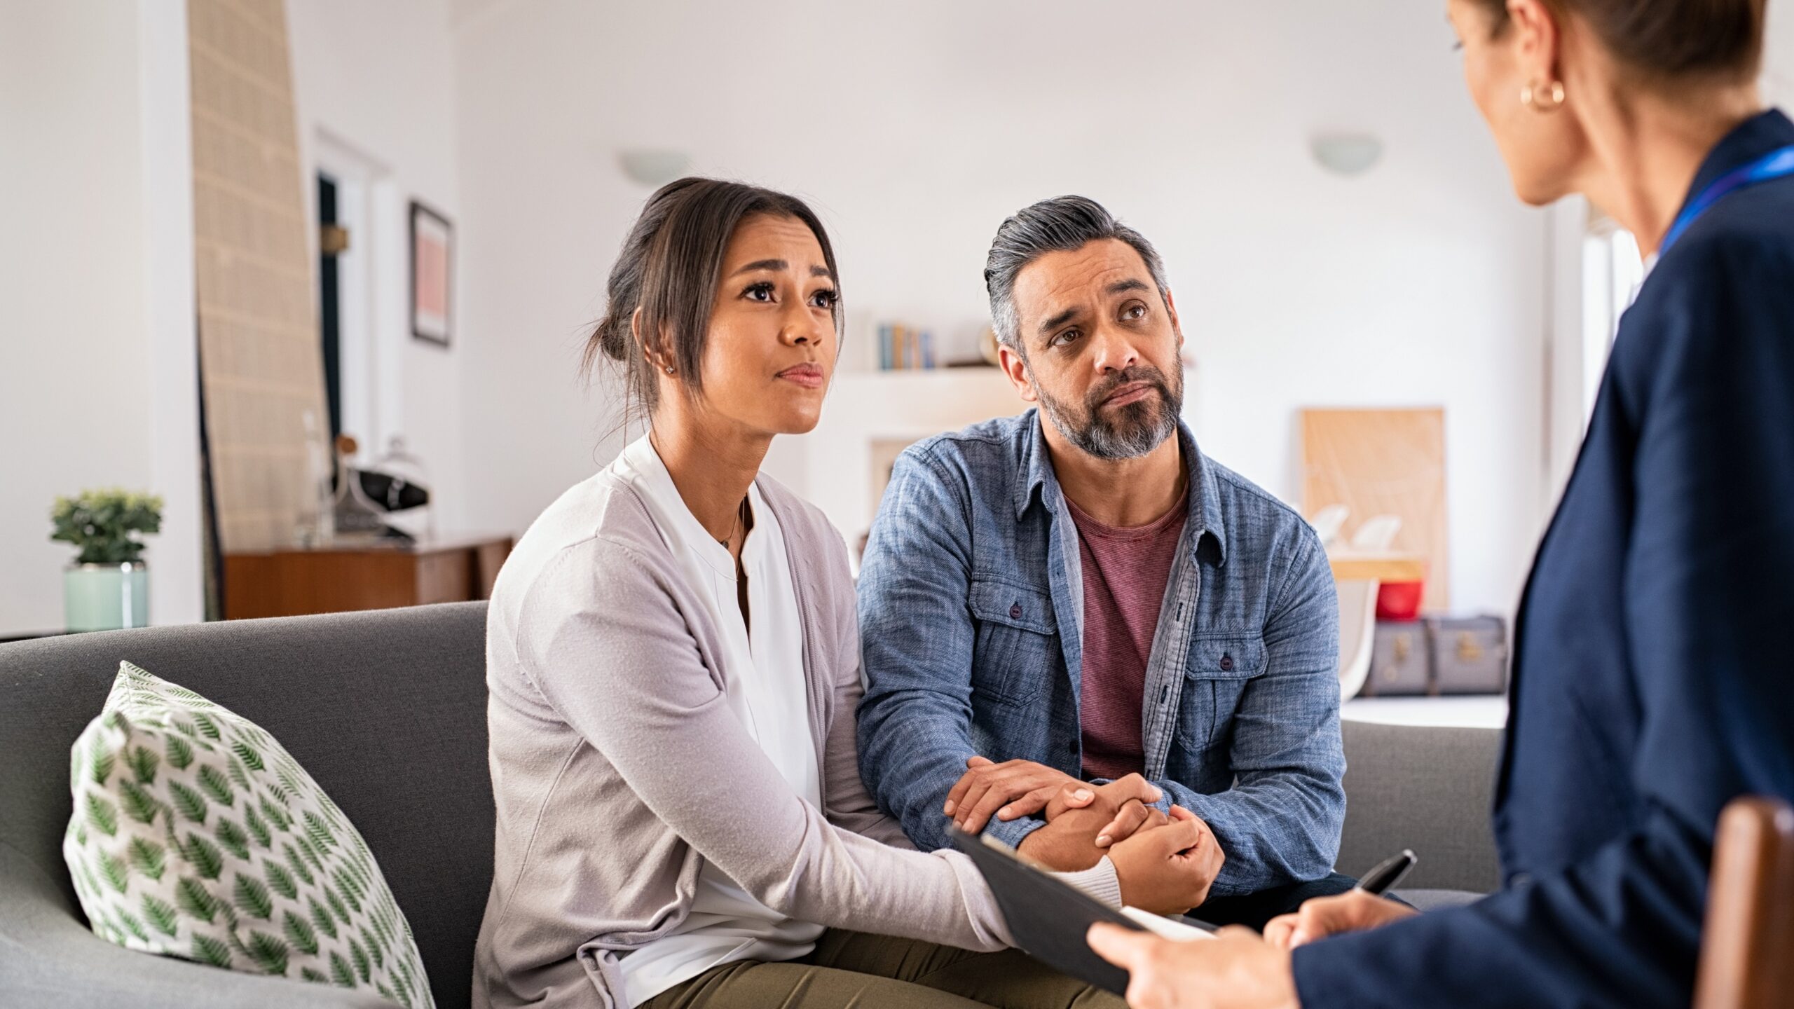
[[258, 977], [108, 943], [41, 867], [0, 844], [0, 1005], [393, 1009], [370, 993]]

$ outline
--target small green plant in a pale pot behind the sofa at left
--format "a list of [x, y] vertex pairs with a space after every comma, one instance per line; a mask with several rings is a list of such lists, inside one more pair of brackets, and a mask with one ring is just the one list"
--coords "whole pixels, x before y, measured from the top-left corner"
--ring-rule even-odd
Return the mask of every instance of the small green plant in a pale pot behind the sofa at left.
[[63, 571], [68, 630], [149, 625], [149, 567], [138, 533], [161, 531], [161, 497], [131, 490], [84, 490], [50, 508], [52, 540], [81, 548]]

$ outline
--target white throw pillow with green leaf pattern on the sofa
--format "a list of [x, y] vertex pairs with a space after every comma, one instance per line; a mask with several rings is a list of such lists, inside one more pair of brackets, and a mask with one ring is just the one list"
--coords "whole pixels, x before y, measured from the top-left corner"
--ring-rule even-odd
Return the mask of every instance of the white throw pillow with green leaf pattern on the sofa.
[[93, 932], [434, 1007], [361, 833], [258, 725], [120, 662], [70, 756], [63, 858]]

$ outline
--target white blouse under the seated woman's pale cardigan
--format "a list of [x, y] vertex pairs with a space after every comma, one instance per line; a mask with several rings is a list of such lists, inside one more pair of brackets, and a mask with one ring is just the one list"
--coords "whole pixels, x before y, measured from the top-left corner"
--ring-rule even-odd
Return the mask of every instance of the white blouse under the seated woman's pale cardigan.
[[[784, 535], [757, 487], [748, 488], [753, 524], [741, 546], [748, 578], [748, 621], [737, 601], [736, 560], [685, 506], [673, 474], [646, 436], [612, 463], [648, 503], [655, 526], [723, 634], [728, 707], [786, 783], [822, 808], [822, 774], [809, 734], [804, 684], [804, 625], [786, 558]], [[752, 817], [753, 810], [741, 810]], [[809, 953], [820, 925], [793, 921], [748, 896], [709, 862], [698, 871], [691, 914], [673, 932], [623, 957], [628, 1005], [736, 961], [793, 961]]]

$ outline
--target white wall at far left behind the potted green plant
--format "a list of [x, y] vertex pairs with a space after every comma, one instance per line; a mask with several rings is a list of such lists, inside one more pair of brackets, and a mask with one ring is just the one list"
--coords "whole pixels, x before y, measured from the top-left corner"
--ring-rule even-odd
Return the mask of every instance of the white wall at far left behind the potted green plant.
[[0, 634], [63, 627], [50, 503], [161, 494], [151, 619], [203, 616], [179, 0], [0, 2]]

